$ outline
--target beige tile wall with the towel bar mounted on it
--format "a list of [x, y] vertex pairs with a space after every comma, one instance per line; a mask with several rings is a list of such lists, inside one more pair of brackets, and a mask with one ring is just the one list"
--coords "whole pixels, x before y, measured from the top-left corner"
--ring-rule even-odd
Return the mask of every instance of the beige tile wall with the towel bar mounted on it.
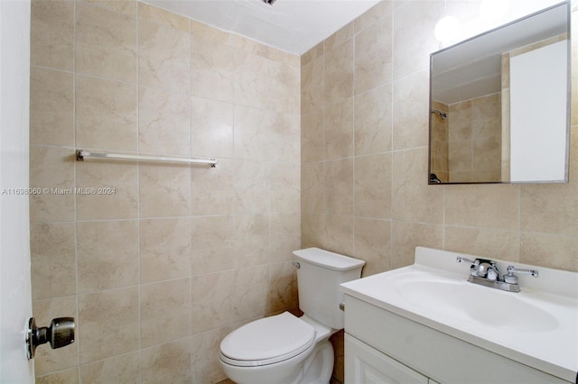
[[132, 0], [32, 11], [31, 186], [115, 188], [31, 199], [33, 315], [78, 326], [38, 382], [225, 379], [222, 337], [297, 306], [299, 57]]

